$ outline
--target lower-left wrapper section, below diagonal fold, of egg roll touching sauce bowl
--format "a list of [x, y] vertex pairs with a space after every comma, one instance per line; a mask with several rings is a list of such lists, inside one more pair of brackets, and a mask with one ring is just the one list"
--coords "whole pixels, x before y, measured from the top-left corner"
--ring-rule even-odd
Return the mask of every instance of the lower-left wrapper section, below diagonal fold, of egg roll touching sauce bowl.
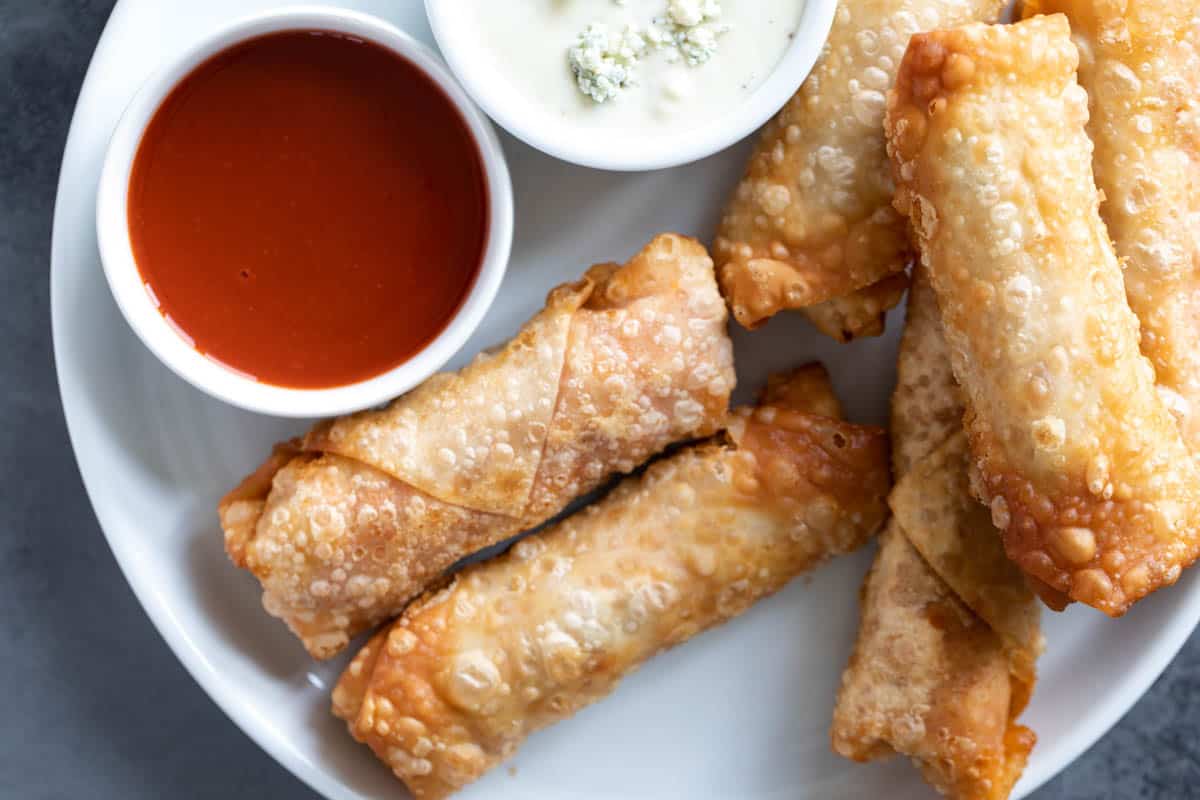
[[262, 582], [266, 612], [320, 658], [398, 613], [456, 553], [520, 530], [360, 462], [302, 456], [276, 474], [241, 566]]

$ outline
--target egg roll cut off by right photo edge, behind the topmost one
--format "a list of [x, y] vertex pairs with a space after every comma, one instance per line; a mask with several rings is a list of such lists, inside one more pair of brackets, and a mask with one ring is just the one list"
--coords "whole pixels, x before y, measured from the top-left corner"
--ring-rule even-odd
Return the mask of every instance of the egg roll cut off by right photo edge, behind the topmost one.
[[1200, 14], [1183, 0], [1027, 0], [1066, 13], [1087, 90], [1100, 216], [1141, 351], [1200, 453]]

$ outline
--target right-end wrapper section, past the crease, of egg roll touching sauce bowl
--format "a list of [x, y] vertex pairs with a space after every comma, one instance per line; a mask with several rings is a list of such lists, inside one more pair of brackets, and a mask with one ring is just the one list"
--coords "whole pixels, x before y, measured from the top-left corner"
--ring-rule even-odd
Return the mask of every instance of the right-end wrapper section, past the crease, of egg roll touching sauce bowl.
[[732, 345], [707, 251], [661, 236], [599, 270], [571, 327], [527, 519], [554, 516], [671, 443], [716, 433], [728, 411]]

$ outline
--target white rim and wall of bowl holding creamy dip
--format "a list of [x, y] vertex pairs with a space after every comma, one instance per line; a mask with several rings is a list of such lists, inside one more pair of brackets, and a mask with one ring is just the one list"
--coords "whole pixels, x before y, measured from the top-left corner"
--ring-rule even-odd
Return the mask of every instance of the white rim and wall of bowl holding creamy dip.
[[744, 102], [684, 133], [670, 131], [660, 136], [650, 131], [589, 130], [564, 122], [538, 97], [511, 86], [487, 59], [480, 58], [473, 40], [463, 32], [464, 26], [455, 24], [456, 14], [463, 13], [462, 0], [425, 0], [425, 11], [442, 56], [500, 127], [562, 161], [613, 172], [649, 172], [707, 158], [762, 127], [812, 71], [829, 37], [838, 0], [805, 0], [792, 43], [770, 76]]

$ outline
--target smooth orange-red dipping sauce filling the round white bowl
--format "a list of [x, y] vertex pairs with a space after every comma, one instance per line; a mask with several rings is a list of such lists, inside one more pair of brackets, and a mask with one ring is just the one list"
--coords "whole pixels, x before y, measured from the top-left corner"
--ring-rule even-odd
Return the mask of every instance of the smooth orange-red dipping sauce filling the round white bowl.
[[199, 351], [326, 389], [445, 329], [484, 259], [487, 180], [420, 68], [295, 31], [235, 46], [175, 88], [139, 145], [128, 218], [148, 290]]

